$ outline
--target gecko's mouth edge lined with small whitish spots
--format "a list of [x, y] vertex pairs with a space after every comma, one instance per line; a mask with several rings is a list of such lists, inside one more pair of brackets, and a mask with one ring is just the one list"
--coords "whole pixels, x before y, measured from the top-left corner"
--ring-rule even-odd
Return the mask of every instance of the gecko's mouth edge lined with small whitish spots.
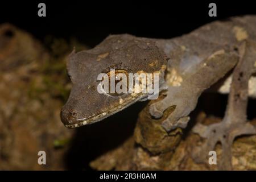
[[131, 96], [131, 97], [123, 100], [122, 104], [112, 107], [111, 109], [102, 111], [100, 114], [92, 114], [89, 117], [85, 117], [85, 118], [73, 118], [72, 121], [75, 123], [66, 124], [65, 126], [68, 128], [75, 128], [75, 127], [90, 125], [90, 124], [96, 123], [98, 121], [102, 121], [103, 119], [109, 117], [110, 115], [118, 113], [119, 111], [125, 109], [126, 107], [134, 104], [135, 102], [137, 102], [138, 100], [141, 100], [142, 98], [144, 98], [146, 96], [147, 95], [142, 94], [142, 93], [136, 94], [134, 96]]

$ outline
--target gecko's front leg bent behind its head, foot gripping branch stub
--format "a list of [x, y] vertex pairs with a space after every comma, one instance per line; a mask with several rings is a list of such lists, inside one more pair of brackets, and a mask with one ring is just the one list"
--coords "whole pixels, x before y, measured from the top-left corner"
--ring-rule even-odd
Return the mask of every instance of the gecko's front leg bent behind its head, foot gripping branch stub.
[[188, 115], [195, 109], [200, 94], [228, 73], [237, 61], [237, 52], [228, 49], [221, 49], [205, 57], [195, 69], [187, 71], [187, 75], [181, 78], [181, 84], [168, 87], [167, 96], [150, 106], [150, 114], [160, 118], [168, 107], [175, 107], [164, 119], [162, 126], [167, 132], [176, 127], [185, 128], [189, 121]]

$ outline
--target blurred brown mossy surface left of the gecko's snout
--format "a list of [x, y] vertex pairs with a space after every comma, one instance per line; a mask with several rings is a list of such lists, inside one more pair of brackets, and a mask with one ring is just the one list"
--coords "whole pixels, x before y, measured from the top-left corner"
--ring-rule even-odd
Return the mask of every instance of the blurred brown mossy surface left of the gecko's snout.
[[[72, 48], [64, 49], [56, 56], [27, 32], [0, 26], [1, 170], [65, 169], [74, 130], [65, 128], [59, 117], [71, 86], [64, 58]], [[41, 150], [47, 165], [38, 164]]]

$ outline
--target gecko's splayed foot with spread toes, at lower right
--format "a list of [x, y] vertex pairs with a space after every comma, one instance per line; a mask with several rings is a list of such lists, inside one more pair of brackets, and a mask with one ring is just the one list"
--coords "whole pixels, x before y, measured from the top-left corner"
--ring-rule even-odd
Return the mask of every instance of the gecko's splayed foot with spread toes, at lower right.
[[198, 124], [193, 128], [193, 132], [205, 138], [203, 146], [195, 148], [192, 152], [192, 157], [197, 163], [207, 162], [209, 158], [209, 151], [214, 150], [217, 142], [222, 145], [222, 158], [218, 163], [218, 169], [231, 170], [232, 169], [232, 143], [234, 139], [240, 135], [256, 134], [256, 129], [249, 122], [237, 123], [236, 125], [229, 125], [229, 123], [222, 121], [214, 123], [210, 126]]

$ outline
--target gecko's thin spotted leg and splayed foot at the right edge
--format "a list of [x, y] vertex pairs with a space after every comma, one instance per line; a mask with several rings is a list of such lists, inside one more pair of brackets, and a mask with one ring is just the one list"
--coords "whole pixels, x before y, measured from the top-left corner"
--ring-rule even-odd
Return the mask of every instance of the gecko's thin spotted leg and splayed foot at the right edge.
[[248, 81], [254, 73], [256, 58], [256, 43], [244, 42], [240, 47], [240, 61], [233, 72], [232, 85], [229, 94], [225, 117], [220, 123], [210, 126], [201, 124], [193, 128], [193, 132], [205, 138], [203, 146], [193, 151], [196, 162], [205, 161], [208, 152], [214, 150], [217, 142], [222, 144], [222, 159], [219, 169], [232, 169], [232, 143], [240, 135], [256, 134], [253, 125], [247, 122], [246, 110], [248, 101]]

